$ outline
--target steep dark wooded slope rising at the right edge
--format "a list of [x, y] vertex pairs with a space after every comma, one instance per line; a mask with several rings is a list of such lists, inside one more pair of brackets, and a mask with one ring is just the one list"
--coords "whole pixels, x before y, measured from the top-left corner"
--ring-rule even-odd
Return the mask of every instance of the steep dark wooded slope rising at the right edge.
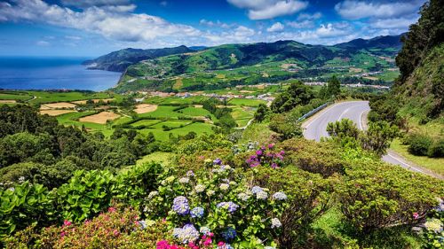
[[[444, 157], [444, 1], [424, 5], [402, 38], [396, 57], [400, 77], [386, 96], [370, 102], [370, 120], [398, 124], [401, 145], [416, 156]], [[412, 157], [412, 159], [415, 159]], [[419, 160], [420, 161], [420, 160]], [[436, 164], [442, 163], [436, 160]], [[442, 167], [442, 164], [441, 164]]]

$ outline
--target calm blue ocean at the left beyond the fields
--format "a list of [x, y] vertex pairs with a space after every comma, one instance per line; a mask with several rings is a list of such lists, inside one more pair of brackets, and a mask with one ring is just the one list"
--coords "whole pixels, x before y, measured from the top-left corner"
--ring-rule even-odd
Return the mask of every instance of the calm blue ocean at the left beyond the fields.
[[120, 73], [88, 70], [89, 58], [0, 57], [0, 89], [110, 89]]

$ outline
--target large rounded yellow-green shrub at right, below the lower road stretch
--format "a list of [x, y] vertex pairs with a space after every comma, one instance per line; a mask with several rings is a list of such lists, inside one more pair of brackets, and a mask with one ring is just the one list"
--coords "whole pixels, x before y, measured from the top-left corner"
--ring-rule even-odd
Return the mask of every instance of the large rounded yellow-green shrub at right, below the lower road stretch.
[[416, 224], [437, 205], [444, 184], [378, 160], [352, 160], [337, 195], [347, 222], [359, 231]]

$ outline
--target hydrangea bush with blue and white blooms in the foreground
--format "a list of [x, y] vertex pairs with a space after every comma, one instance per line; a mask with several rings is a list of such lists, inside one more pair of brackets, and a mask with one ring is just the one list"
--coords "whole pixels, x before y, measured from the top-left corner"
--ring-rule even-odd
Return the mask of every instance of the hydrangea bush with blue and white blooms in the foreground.
[[206, 167], [207, 175], [189, 171], [182, 177], [163, 177], [158, 190], [148, 194], [147, 218], [164, 217], [173, 228], [174, 241], [157, 248], [222, 249], [242, 243], [264, 248], [263, 241], [273, 248], [286, 194], [250, 186], [220, 159], [207, 160]]

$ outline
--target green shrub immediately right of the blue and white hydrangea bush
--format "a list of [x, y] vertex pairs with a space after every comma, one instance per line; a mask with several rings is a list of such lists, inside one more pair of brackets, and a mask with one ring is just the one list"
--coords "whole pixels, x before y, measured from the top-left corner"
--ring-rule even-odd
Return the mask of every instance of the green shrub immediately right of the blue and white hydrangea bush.
[[281, 248], [299, 248], [306, 242], [312, 222], [329, 208], [331, 183], [293, 166], [258, 167], [247, 175], [254, 175], [254, 184], [288, 193], [289, 205], [281, 215], [282, 232], [278, 240]]

